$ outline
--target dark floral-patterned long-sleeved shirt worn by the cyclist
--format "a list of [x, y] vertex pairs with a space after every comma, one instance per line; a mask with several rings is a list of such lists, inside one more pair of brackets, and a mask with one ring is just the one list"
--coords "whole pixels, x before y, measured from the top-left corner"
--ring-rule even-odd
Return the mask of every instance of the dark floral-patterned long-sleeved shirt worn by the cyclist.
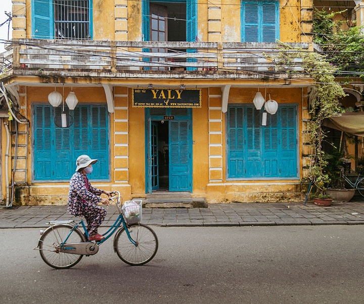
[[85, 174], [75, 172], [70, 180], [67, 211], [74, 216], [82, 216], [83, 202], [98, 204], [101, 202], [102, 193], [102, 190], [91, 186]]

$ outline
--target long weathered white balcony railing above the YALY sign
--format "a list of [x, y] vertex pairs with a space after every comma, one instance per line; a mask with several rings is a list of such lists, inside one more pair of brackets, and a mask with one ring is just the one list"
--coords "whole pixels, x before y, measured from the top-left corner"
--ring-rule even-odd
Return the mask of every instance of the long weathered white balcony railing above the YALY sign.
[[[291, 43], [308, 49], [307, 43]], [[15, 75], [257, 78], [300, 73], [302, 60], [277, 62], [277, 43], [70, 41], [20, 39], [4, 53], [1, 72]], [[3, 75], [4, 77], [4, 75]], [[291, 76], [292, 77], [292, 76]], [[1, 75], [0, 75], [1, 79]]]

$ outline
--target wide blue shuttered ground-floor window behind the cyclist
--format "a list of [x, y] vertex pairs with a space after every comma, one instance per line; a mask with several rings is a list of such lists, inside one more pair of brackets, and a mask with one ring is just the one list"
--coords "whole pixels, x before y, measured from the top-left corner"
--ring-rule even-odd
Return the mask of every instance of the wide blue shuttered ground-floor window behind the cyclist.
[[81, 105], [74, 111], [69, 128], [57, 127], [55, 118], [61, 107], [36, 104], [34, 113], [34, 180], [69, 180], [76, 169], [76, 159], [87, 154], [99, 161], [94, 164], [92, 179], [109, 179], [108, 112], [102, 105]]

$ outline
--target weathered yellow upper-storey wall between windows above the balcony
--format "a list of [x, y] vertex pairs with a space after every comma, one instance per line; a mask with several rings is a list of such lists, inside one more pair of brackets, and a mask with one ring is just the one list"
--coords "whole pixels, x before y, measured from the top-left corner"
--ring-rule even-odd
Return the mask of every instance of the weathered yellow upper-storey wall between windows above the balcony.
[[[21, 2], [24, 2], [21, 3]], [[241, 41], [240, 0], [202, 0], [198, 3], [198, 40], [210, 42]], [[93, 39], [116, 41], [142, 40], [142, 2], [127, 0], [93, 1]], [[25, 18], [15, 17], [14, 38], [31, 37], [31, 0], [20, 0], [14, 9]], [[26, 12], [26, 13], [25, 13]], [[310, 14], [307, 12], [305, 14]], [[302, 16], [305, 18], [305, 16]], [[301, 2], [280, 0], [280, 36], [283, 42], [300, 42]]]

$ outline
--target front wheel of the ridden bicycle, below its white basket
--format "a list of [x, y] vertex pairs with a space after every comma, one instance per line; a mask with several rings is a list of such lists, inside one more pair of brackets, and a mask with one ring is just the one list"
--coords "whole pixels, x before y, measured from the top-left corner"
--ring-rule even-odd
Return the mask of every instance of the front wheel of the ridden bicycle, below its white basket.
[[124, 227], [120, 228], [114, 238], [114, 251], [126, 264], [137, 266], [151, 261], [158, 250], [158, 238], [152, 228], [144, 224], [131, 224], [128, 231], [136, 242], [132, 244]]

